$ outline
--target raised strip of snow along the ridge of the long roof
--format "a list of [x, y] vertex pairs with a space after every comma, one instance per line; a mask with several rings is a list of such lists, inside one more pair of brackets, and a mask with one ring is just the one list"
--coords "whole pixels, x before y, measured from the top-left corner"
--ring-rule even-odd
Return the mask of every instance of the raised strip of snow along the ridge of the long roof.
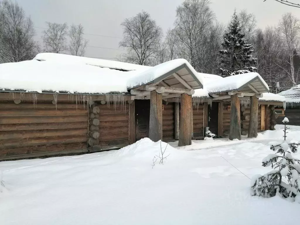
[[105, 59], [98, 59], [98, 58], [88, 58], [88, 57], [58, 54], [58, 53], [49, 53], [49, 52], [39, 53], [33, 59], [39, 61], [50, 61], [50, 60], [59, 61], [61, 63], [62, 62], [76, 63], [76, 64], [82, 63], [82, 64], [88, 64], [92, 66], [99, 66], [99, 67], [124, 70], [124, 71], [145, 70], [151, 68], [149, 66], [142, 66], [142, 65], [126, 63], [126, 62], [119, 62], [119, 61], [105, 60]]

